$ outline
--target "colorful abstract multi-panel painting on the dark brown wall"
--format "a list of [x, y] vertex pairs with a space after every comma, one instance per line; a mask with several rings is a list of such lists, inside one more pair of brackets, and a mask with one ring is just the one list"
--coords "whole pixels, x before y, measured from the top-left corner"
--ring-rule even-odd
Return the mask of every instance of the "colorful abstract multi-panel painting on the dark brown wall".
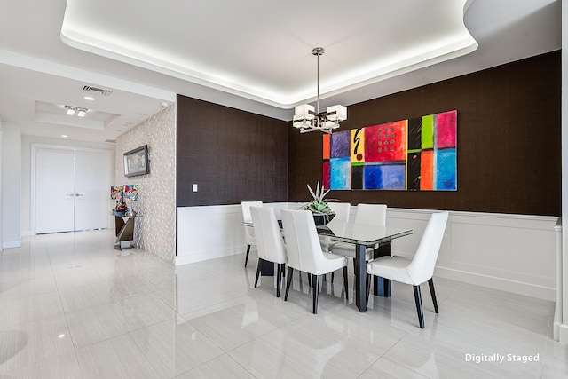
[[323, 136], [332, 190], [457, 190], [457, 111]]

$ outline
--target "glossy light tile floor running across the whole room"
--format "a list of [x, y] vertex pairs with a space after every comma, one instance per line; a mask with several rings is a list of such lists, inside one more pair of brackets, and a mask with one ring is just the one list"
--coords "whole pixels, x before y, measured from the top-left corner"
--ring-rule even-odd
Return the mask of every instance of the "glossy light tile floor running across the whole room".
[[254, 288], [254, 252], [248, 268], [244, 254], [176, 268], [113, 241], [50, 234], [0, 253], [0, 378], [568, 377], [548, 301], [435, 278], [422, 330], [412, 288], [360, 313], [336, 275], [313, 315], [305, 275], [288, 302], [273, 278]]

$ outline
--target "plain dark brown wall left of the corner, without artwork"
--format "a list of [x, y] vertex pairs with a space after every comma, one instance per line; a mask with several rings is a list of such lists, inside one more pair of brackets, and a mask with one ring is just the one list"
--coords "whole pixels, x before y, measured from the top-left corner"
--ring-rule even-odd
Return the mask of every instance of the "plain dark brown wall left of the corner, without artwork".
[[287, 201], [288, 122], [177, 95], [176, 170], [178, 207]]

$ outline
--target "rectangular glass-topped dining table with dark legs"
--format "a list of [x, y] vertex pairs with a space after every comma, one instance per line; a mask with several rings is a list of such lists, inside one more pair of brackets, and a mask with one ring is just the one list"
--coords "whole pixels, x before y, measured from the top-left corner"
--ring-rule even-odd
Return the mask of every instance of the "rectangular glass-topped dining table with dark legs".
[[[386, 226], [365, 225], [355, 223], [334, 223], [316, 226], [318, 234], [332, 241], [340, 241], [355, 245], [355, 304], [359, 312], [367, 312], [367, 268], [365, 252], [374, 249], [374, 258], [390, 256], [391, 242], [413, 233], [412, 229]], [[388, 281], [375, 277], [373, 289], [375, 295], [390, 296]]]

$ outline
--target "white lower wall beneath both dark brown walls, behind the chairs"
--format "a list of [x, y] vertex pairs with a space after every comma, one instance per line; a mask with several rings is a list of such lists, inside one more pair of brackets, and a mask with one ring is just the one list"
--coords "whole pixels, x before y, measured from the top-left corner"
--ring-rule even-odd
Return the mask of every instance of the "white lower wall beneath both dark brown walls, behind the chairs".
[[[388, 210], [388, 226], [413, 230], [393, 241], [395, 254], [414, 254], [431, 212]], [[354, 213], [351, 207], [351, 217]], [[556, 217], [451, 212], [435, 274], [554, 301], [555, 224]], [[177, 208], [177, 265], [245, 251], [240, 204]]]

